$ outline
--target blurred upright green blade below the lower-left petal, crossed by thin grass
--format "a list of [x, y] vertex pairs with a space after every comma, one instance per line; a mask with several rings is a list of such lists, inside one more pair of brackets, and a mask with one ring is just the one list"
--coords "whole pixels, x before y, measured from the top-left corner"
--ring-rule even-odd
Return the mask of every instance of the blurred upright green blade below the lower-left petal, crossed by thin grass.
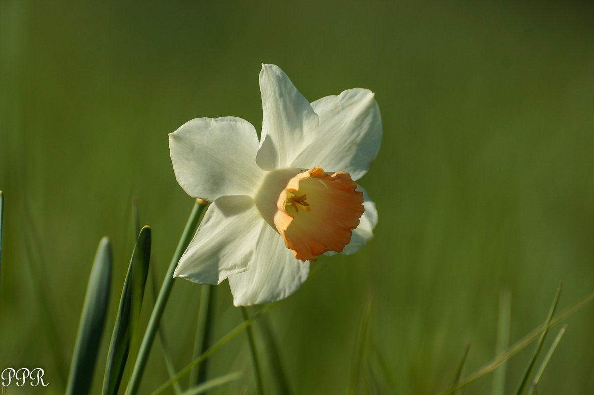
[[[192, 359], [198, 358], [210, 346], [210, 334], [214, 324], [214, 298], [216, 287], [213, 285], [202, 285], [200, 290], [200, 309], [198, 309], [198, 324], [196, 325], [196, 337], [194, 340], [194, 353]], [[196, 385], [206, 381], [207, 362], [195, 366], [189, 375], [189, 385]]]

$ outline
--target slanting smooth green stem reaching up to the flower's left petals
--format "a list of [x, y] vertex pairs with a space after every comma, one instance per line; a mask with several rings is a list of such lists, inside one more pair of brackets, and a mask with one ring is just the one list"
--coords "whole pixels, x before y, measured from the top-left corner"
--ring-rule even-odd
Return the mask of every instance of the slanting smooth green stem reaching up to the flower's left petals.
[[159, 323], [161, 321], [161, 317], [163, 316], [165, 305], [169, 299], [169, 294], [171, 293], [171, 288], [173, 286], [173, 272], [175, 271], [176, 266], [178, 266], [179, 258], [181, 258], [186, 247], [188, 247], [188, 244], [194, 235], [194, 230], [198, 225], [200, 215], [203, 213], [205, 208], [206, 202], [197, 200], [194, 204], [194, 208], [192, 209], [192, 213], [189, 215], [184, 233], [182, 233], [182, 236], [179, 239], [178, 248], [175, 250], [175, 254], [173, 254], [173, 258], [169, 264], [169, 269], [165, 274], [165, 279], [163, 279], [163, 285], [159, 291], [159, 296], [157, 296], [157, 302], [155, 303], [153, 312], [150, 316], [149, 324], [147, 325], [146, 331], [144, 332], [143, 342], [140, 345], [140, 350], [138, 350], [138, 356], [136, 358], [134, 369], [132, 370], [132, 375], [126, 390], [127, 395], [135, 395], [138, 392], [140, 379], [143, 375], [147, 360], [149, 359], [149, 353], [151, 346], [153, 345], [154, 336], [159, 329]]

